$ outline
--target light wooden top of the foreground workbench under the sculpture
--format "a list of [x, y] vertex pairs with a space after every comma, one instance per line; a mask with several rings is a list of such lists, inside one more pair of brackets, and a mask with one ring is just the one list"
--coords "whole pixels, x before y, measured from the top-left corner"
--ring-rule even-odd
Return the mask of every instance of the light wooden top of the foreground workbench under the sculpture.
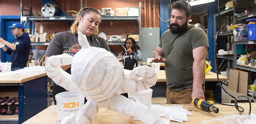
[[[169, 104], [167, 106], [172, 106]], [[184, 122], [185, 124], [198, 124], [202, 121], [208, 121], [214, 118], [222, 118], [224, 116], [230, 114], [237, 114], [238, 112], [235, 107], [231, 106], [223, 106], [216, 104], [214, 105], [219, 108], [219, 113], [205, 112], [198, 108], [192, 106], [192, 104], [184, 104], [184, 108], [188, 111], [192, 112], [194, 115], [188, 115], [188, 122]], [[245, 113], [243, 115], [248, 114], [249, 104], [248, 103], [240, 103], [239, 106], [242, 106], [245, 109]], [[256, 113], [256, 103], [252, 103], [252, 112]], [[57, 106], [50, 106], [42, 112], [38, 113], [31, 119], [24, 122], [24, 124], [59, 124], [57, 122]], [[171, 123], [181, 124], [175, 121]], [[107, 110], [106, 108], [100, 108], [97, 116], [94, 118], [92, 124], [143, 124], [141, 121], [134, 121], [129, 119], [128, 116], [118, 113], [116, 111]]]

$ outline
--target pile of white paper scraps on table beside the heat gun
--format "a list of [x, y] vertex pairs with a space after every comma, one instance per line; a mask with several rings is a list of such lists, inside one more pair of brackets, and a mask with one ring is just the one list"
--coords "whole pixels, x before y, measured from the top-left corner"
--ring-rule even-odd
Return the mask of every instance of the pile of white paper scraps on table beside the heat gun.
[[162, 106], [152, 104], [151, 110], [160, 117], [168, 117], [169, 120], [180, 123], [183, 123], [183, 121], [188, 121], [187, 115], [193, 115], [193, 113], [183, 108], [183, 105]]

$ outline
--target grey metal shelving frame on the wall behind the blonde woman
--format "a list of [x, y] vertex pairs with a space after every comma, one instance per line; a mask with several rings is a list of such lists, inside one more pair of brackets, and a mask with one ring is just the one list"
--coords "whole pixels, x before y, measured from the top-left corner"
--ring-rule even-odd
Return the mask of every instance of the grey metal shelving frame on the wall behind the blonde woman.
[[[23, 10], [23, 5], [20, 4], [21, 11]], [[53, 17], [41, 17], [41, 16], [23, 16], [21, 13], [21, 22], [24, 22], [24, 26], [29, 22], [30, 30], [32, 30], [32, 22], [59, 22], [59, 21], [74, 21], [76, 17], [74, 16], [53, 16]], [[137, 21], [139, 23], [139, 42], [136, 44], [141, 49], [141, 2], [139, 2], [139, 16], [102, 16], [102, 21]], [[122, 41], [107, 41], [108, 45], [124, 45]], [[47, 46], [49, 42], [31, 42], [31, 46]]]

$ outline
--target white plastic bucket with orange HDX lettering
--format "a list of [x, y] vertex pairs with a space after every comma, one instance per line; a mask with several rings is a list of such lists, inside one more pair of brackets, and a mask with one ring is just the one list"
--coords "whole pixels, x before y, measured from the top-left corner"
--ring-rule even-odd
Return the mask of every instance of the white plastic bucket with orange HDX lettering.
[[66, 91], [55, 95], [57, 102], [58, 122], [73, 113], [76, 113], [79, 108], [84, 105], [84, 96], [79, 92]]

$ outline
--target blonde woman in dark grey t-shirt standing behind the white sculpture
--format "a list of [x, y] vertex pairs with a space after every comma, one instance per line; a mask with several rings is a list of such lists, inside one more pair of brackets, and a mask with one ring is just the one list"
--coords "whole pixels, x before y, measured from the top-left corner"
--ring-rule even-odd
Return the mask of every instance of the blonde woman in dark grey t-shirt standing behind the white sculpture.
[[[78, 43], [77, 32], [79, 31], [86, 35], [91, 46], [102, 47], [110, 51], [106, 41], [96, 35], [98, 33], [98, 26], [100, 22], [101, 14], [97, 9], [91, 7], [81, 9], [76, 14], [76, 20], [70, 27], [69, 31], [56, 33], [54, 35], [46, 50], [46, 61], [52, 55], [59, 55], [63, 53], [74, 56], [74, 54], [81, 49], [81, 46]], [[71, 65], [61, 66], [61, 68], [71, 74]], [[54, 104], [56, 104], [55, 95], [64, 91], [66, 90], [63, 87], [54, 83], [52, 88]]]

